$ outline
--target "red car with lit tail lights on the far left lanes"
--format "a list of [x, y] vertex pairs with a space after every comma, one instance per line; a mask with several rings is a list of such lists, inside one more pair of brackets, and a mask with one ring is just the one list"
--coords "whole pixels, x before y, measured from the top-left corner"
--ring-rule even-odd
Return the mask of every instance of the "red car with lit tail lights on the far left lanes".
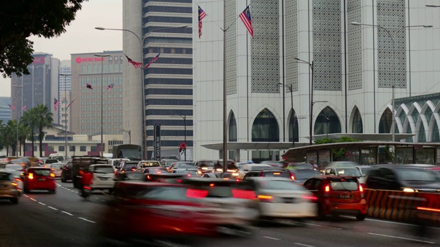
[[55, 174], [50, 168], [45, 167], [29, 167], [23, 173], [23, 190], [28, 193], [34, 189], [48, 190], [55, 193]]

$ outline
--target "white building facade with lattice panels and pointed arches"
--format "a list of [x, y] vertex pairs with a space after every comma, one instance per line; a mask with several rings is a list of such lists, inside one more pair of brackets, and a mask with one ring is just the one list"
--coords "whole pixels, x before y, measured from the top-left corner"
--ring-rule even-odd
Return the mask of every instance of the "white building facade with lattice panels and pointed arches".
[[[217, 26], [223, 26], [223, 2], [198, 4], [209, 18], [203, 19], [201, 38], [197, 25], [193, 30], [194, 158], [219, 158], [217, 150], [203, 145], [223, 141], [223, 32]], [[438, 0], [227, 0], [226, 4], [229, 141], [292, 141], [291, 88], [294, 137], [308, 143], [312, 62], [314, 136], [388, 133], [393, 84], [396, 99], [440, 89], [435, 79], [440, 76], [436, 62], [440, 10], [425, 6], [440, 5]], [[249, 4], [253, 38], [242, 21], [236, 20]], [[193, 12], [197, 24], [195, 4]], [[353, 22], [365, 25], [351, 25]], [[415, 25], [434, 27], [408, 27]], [[434, 124], [440, 124], [438, 101], [428, 104], [432, 110], [428, 117], [422, 112], [427, 100], [419, 108], [411, 108], [411, 104], [405, 108], [398, 102], [396, 133], [412, 133], [418, 138], [421, 128], [428, 128], [423, 134], [427, 141], [432, 140], [427, 136], [434, 132]], [[411, 115], [413, 108], [423, 117], [400, 117], [402, 111]], [[434, 122], [429, 126], [431, 119]], [[236, 156], [229, 154], [229, 158]], [[269, 152], [244, 150], [240, 157], [270, 158]]]

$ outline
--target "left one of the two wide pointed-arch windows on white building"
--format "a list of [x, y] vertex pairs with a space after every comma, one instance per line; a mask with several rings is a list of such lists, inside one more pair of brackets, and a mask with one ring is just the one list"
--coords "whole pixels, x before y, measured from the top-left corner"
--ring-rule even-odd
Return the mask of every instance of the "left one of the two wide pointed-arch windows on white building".
[[252, 141], [280, 141], [278, 123], [266, 108], [261, 110], [252, 124]]

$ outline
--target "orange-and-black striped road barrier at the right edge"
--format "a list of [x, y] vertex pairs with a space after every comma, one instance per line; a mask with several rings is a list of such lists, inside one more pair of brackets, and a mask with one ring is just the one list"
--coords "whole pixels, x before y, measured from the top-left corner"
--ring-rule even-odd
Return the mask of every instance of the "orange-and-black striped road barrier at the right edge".
[[[367, 217], [399, 222], [411, 222], [415, 219], [417, 207], [434, 209], [434, 224], [440, 225], [440, 193], [418, 193], [388, 191], [382, 189], [364, 189], [368, 206]], [[435, 211], [438, 209], [439, 211]]]

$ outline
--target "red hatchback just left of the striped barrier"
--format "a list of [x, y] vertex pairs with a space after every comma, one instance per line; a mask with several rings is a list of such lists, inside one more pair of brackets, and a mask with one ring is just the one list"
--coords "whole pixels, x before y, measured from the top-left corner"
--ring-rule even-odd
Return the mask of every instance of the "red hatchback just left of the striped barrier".
[[304, 187], [318, 199], [318, 217], [327, 215], [355, 215], [365, 220], [367, 207], [364, 189], [357, 177], [316, 176], [305, 181]]

